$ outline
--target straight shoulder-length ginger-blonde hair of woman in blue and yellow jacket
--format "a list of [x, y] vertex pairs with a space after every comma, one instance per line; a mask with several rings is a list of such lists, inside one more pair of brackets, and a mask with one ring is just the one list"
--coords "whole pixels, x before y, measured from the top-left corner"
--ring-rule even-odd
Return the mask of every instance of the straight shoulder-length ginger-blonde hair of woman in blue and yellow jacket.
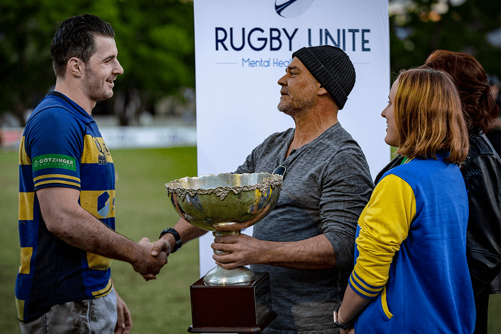
[[434, 69], [401, 71], [394, 102], [400, 144], [397, 153], [409, 158], [434, 158], [461, 164], [468, 154], [468, 132], [461, 100], [449, 74]]

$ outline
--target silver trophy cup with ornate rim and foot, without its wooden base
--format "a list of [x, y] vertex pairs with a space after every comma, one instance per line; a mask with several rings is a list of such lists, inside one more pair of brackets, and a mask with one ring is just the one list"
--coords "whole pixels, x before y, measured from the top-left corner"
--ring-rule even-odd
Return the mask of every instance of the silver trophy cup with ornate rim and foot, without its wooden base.
[[[240, 234], [265, 218], [275, 207], [283, 184], [283, 170], [253, 174], [212, 174], [183, 177], [165, 184], [177, 213], [188, 223], [214, 236]], [[226, 254], [214, 250], [215, 254]], [[215, 266], [203, 277], [206, 285], [248, 285], [256, 274], [244, 267]]]

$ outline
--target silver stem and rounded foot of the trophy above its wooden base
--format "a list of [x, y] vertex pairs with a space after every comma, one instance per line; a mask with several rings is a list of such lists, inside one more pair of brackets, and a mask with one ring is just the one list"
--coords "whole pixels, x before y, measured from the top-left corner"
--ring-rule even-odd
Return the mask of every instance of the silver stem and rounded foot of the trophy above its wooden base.
[[[240, 231], [217, 232], [213, 231], [212, 235], [222, 236], [230, 234], [240, 234]], [[228, 252], [214, 250], [214, 254], [229, 254]], [[250, 285], [256, 279], [256, 273], [247, 267], [239, 266], [232, 269], [224, 269], [218, 265], [209, 270], [203, 276], [205, 285]]]

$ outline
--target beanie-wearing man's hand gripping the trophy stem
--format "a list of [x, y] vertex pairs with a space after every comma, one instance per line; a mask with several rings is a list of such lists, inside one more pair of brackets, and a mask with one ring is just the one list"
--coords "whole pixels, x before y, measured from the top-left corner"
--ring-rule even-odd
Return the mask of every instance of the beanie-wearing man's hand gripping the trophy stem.
[[212, 249], [228, 252], [228, 254], [214, 254], [212, 258], [216, 264], [224, 269], [231, 269], [240, 265], [261, 263], [265, 243], [245, 234], [231, 234], [217, 236]]

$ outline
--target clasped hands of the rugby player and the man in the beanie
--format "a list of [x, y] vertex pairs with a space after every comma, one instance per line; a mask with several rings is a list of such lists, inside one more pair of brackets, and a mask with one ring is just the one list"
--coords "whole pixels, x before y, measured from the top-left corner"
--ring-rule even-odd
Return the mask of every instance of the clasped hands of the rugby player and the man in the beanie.
[[132, 264], [135, 271], [139, 272], [145, 280], [156, 279], [160, 269], [167, 263], [167, 252], [170, 253], [170, 245], [164, 240], [156, 241], [156, 247], [160, 249], [156, 256], [151, 255], [153, 243], [148, 238], [139, 241], [142, 251], [136, 263]]

